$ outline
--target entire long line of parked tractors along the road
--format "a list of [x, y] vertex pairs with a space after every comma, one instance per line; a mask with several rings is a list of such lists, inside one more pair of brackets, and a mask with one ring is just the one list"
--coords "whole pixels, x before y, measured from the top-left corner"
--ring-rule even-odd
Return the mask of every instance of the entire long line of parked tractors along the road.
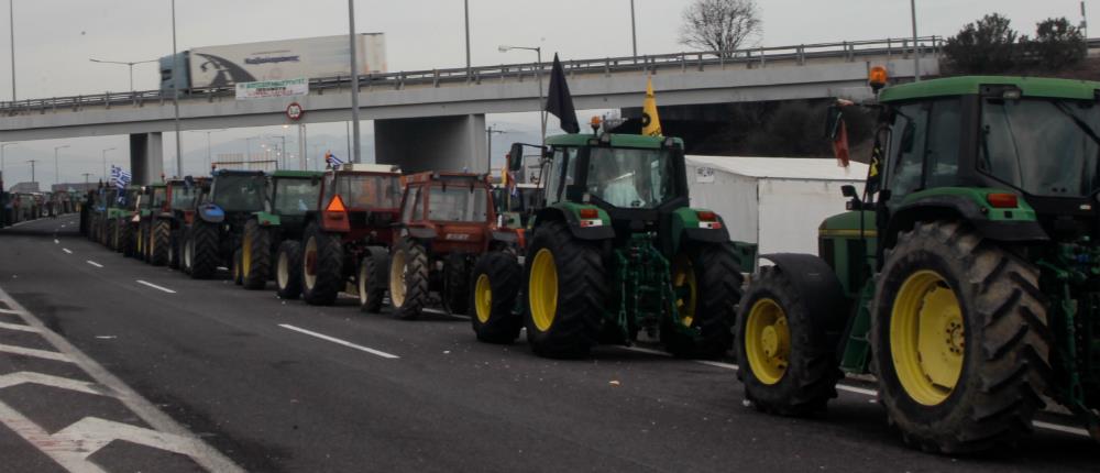
[[[871, 72], [878, 91], [886, 69]], [[755, 244], [690, 207], [681, 140], [598, 121], [512, 146], [508, 175], [537, 150], [532, 200], [463, 173], [217, 170], [91, 193], [81, 229], [195, 278], [274, 279], [285, 299], [343, 290], [376, 312], [388, 296], [403, 319], [438, 302], [469, 311], [484, 342], [526, 329], [543, 356], [642, 333], [680, 356], [736, 346], [746, 398], [780, 415], [814, 415], [845, 373], [873, 374], [923, 450], [1016, 442], [1047, 399], [1100, 437], [1098, 90], [1013, 77], [884, 89], [864, 105], [878, 116], [864, 191], [845, 186], [818, 255], [761, 268]], [[827, 130], [846, 160], [857, 106], [838, 103]]]

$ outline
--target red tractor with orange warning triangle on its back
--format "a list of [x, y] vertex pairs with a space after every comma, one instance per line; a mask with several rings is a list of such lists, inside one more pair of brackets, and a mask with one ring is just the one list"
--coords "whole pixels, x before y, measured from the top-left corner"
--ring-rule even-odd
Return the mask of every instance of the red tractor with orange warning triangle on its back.
[[301, 241], [286, 240], [278, 248], [279, 297], [300, 295], [310, 305], [331, 305], [345, 290], [359, 293], [364, 310], [378, 310], [400, 189], [400, 170], [394, 166], [348, 164], [324, 173]]

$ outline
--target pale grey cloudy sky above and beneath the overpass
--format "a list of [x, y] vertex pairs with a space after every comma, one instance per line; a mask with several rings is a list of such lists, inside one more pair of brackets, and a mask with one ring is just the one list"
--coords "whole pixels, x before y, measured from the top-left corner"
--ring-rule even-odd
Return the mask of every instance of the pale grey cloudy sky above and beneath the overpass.
[[[169, 0], [0, 0], [0, 100], [11, 98], [8, 2], [14, 1], [18, 98], [42, 98], [122, 91], [129, 87], [125, 66], [107, 61], [155, 59], [172, 52]], [[678, 43], [680, 14], [691, 0], [635, 0], [638, 52], [661, 54], [684, 50]], [[905, 0], [757, 0], [763, 21], [759, 43], [769, 46], [871, 40], [910, 35], [910, 2]], [[952, 35], [985, 13], [1000, 12], [1021, 33], [1049, 16], [1080, 20], [1079, 0], [916, 0], [921, 35]], [[471, 55], [474, 65], [530, 61], [531, 53], [501, 53], [497, 46], [541, 45], [563, 58], [630, 54], [629, 0], [470, 0]], [[1090, 10], [1100, 2], [1087, 2]], [[1100, 12], [1100, 10], [1098, 10]], [[358, 0], [359, 32], [384, 32], [391, 70], [460, 67], [465, 63], [461, 0]], [[1090, 12], [1091, 13], [1091, 12]], [[348, 31], [344, 0], [179, 0], [177, 41], [180, 51], [195, 46], [343, 34]], [[1100, 26], [1098, 26], [1100, 28]], [[1097, 34], [1092, 34], [1097, 36]], [[158, 87], [155, 64], [134, 68], [134, 87]], [[535, 130], [534, 114], [490, 116], [517, 134]], [[364, 122], [364, 142], [371, 123]], [[277, 129], [232, 130], [211, 135], [215, 153], [243, 152], [244, 138]], [[343, 143], [344, 125], [312, 127], [310, 136]], [[324, 138], [321, 138], [324, 136]], [[205, 133], [185, 133], [188, 167], [206, 156]], [[312, 139], [311, 139], [312, 141]], [[498, 142], [509, 141], [497, 138]], [[30, 158], [47, 158], [38, 180], [53, 180], [53, 147], [67, 163], [62, 178], [99, 174], [101, 150], [125, 162], [125, 136], [51, 140], [9, 146], [6, 182], [28, 180]], [[494, 143], [496, 144], [496, 143]], [[367, 143], [364, 143], [367, 145]], [[293, 145], [292, 145], [293, 147]], [[497, 147], [497, 146], [494, 146]], [[239, 148], [239, 150], [238, 150]], [[165, 158], [174, 160], [174, 142], [165, 134]], [[197, 167], [196, 167], [197, 168]], [[38, 170], [42, 170], [40, 165]], [[92, 177], [95, 179], [95, 177]]]

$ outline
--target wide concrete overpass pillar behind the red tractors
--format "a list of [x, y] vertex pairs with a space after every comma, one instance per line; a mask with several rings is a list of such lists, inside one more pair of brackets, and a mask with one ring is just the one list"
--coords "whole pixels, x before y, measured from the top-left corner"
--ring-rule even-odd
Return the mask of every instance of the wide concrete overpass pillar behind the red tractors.
[[487, 153], [484, 114], [374, 121], [375, 161], [406, 173], [486, 173]]

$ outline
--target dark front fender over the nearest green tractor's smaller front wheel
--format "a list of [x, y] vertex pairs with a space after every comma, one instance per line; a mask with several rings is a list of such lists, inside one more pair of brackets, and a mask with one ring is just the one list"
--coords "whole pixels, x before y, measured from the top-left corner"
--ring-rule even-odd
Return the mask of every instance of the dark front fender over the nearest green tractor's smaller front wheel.
[[[760, 255], [774, 263], [811, 311], [815, 331], [829, 334], [829, 346], [840, 337], [848, 321], [848, 301], [844, 287], [825, 260], [812, 254], [773, 253]], [[763, 266], [763, 264], [761, 264]]]

